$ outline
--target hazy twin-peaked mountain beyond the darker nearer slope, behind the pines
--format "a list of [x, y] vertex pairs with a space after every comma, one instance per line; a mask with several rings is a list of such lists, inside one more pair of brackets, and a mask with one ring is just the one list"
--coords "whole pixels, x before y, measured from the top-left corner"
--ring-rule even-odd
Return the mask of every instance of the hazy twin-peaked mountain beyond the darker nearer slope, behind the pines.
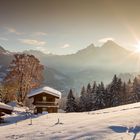
[[72, 88], [77, 91], [89, 82], [103, 81], [107, 84], [114, 74], [133, 73], [140, 68], [136, 65], [139, 55], [132, 55], [131, 51], [113, 41], [107, 41], [101, 47], [90, 44], [70, 55], [44, 55], [33, 51], [26, 53], [37, 54], [44, 65], [72, 78]]

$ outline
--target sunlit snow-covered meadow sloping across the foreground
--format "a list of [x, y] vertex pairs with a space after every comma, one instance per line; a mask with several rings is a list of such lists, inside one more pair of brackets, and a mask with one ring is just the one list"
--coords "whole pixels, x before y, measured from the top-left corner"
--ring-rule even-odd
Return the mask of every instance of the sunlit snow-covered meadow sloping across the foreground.
[[92, 112], [38, 115], [32, 122], [24, 110], [16, 108], [5, 119], [9, 122], [0, 124], [0, 140], [140, 139], [140, 103]]

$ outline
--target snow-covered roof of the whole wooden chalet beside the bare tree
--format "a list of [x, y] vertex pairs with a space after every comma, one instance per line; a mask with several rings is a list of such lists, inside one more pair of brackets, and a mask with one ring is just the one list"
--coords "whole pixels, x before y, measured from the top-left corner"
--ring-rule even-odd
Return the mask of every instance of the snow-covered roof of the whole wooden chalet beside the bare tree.
[[42, 92], [61, 98], [60, 91], [53, 89], [51, 87], [47, 87], [47, 86], [32, 90], [27, 96], [32, 97], [32, 96], [38, 95]]

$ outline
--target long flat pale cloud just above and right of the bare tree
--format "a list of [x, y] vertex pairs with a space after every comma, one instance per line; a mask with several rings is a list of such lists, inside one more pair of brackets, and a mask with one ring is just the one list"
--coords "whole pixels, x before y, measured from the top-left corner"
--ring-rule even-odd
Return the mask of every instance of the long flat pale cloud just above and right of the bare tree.
[[46, 44], [45, 41], [33, 40], [33, 39], [19, 39], [21, 43], [33, 45], [33, 46], [44, 46]]

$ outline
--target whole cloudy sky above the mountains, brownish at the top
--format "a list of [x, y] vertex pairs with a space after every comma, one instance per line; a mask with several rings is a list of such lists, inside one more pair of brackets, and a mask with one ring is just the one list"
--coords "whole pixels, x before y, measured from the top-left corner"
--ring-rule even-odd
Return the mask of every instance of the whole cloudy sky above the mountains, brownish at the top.
[[0, 45], [70, 54], [114, 40], [140, 48], [139, 0], [0, 0]]

